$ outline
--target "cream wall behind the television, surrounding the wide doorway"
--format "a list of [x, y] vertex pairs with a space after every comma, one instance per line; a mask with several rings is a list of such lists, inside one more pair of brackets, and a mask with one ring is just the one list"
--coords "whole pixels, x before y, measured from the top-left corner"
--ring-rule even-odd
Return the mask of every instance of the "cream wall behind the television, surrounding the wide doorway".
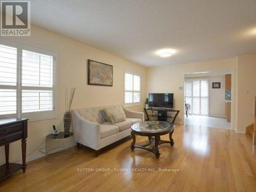
[[179, 65], [161, 66], [147, 68], [147, 93], [174, 93], [175, 109], [180, 110], [177, 123], [183, 123], [184, 114], [184, 74], [204, 71], [223, 71], [233, 72], [232, 106], [233, 129], [237, 130], [237, 58], [212, 60], [197, 63], [186, 63]]

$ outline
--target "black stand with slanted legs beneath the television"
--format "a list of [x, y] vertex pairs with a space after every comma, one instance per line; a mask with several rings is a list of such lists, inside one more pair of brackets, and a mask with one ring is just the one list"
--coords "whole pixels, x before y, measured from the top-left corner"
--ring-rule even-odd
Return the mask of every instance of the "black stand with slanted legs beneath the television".
[[[180, 113], [179, 110], [172, 110], [172, 109], [167, 109], [167, 108], [144, 108], [147, 120], [151, 120], [151, 121], [167, 121], [170, 123], [174, 123], [176, 117], [178, 116], [178, 114]], [[150, 113], [151, 112], [151, 113]], [[156, 113], [154, 113], [156, 112]], [[174, 112], [175, 115], [168, 115], [168, 113], [170, 114], [171, 112]]]

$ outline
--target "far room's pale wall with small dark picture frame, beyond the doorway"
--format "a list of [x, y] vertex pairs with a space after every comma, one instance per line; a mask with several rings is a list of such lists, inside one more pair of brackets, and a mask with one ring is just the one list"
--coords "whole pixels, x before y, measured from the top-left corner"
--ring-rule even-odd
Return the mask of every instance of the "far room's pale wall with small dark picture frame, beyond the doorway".
[[[209, 116], [225, 118], [225, 75], [186, 77], [185, 79], [208, 79]], [[221, 82], [221, 89], [212, 89], [212, 82]]]

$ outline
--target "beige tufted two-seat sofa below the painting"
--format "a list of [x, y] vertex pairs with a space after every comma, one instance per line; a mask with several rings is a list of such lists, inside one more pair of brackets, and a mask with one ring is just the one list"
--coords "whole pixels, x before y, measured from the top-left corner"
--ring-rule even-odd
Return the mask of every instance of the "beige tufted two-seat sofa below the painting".
[[[126, 120], [115, 124], [106, 122], [101, 113], [104, 108], [123, 109]], [[144, 121], [144, 113], [127, 110], [122, 105], [72, 110], [75, 141], [78, 145], [82, 144], [93, 148], [95, 150], [95, 157], [98, 155], [98, 150], [104, 146], [130, 136], [132, 124], [142, 121]]]

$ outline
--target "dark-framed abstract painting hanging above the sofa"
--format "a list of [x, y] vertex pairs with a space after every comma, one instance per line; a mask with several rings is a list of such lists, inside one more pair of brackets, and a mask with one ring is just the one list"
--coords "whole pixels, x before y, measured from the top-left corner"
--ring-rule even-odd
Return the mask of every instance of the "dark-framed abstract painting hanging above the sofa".
[[88, 59], [88, 84], [113, 86], [113, 66]]

